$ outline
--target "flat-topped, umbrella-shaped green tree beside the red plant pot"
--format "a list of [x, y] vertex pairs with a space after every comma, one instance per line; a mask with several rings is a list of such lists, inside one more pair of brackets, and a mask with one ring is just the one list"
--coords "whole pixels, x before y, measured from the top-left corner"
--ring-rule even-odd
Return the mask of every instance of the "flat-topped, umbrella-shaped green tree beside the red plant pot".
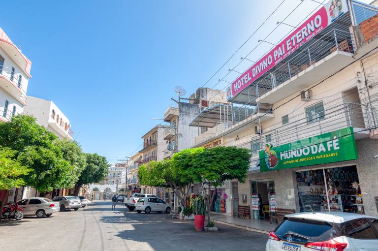
[[[181, 151], [176, 157], [180, 177], [189, 177], [198, 182], [205, 191], [208, 208], [208, 223], [211, 222], [210, 208], [216, 192], [226, 180], [238, 179], [245, 182], [250, 168], [250, 150], [237, 147], [194, 148]], [[178, 154], [180, 154], [178, 153]], [[187, 179], [187, 178], [186, 178]]]

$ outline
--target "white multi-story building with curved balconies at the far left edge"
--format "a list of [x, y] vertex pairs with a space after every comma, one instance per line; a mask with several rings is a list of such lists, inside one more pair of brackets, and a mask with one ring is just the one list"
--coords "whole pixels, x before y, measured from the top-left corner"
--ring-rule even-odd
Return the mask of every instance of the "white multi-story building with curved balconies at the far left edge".
[[[32, 62], [0, 28], [0, 121], [8, 122], [27, 105]], [[21, 198], [23, 189], [0, 190], [0, 201]], [[5, 199], [3, 199], [5, 198]]]

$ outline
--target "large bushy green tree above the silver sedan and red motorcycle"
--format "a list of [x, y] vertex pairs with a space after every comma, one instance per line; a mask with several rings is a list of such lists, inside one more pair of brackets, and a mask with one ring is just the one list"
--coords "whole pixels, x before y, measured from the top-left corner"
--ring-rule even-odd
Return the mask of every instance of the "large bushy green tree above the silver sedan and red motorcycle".
[[8, 123], [0, 123], [0, 146], [17, 151], [13, 158], [31, 169], [23, 176], [26, 185], [36, 188], [42, 195], [62, 188], [71, 179], [73, 167], [53, 143], [56, 140], [57, 136], [28, 115], [20, 114]]

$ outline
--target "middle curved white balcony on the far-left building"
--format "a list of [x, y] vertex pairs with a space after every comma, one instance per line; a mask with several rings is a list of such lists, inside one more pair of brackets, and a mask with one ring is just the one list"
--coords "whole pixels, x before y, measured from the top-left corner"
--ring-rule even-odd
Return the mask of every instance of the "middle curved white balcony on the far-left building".
[[12, 69], [0, 66], [0, 87], [23, 105], [26, 105], [26, 92], [22, 89], [23, 79], [18, 74], [12, 73]]

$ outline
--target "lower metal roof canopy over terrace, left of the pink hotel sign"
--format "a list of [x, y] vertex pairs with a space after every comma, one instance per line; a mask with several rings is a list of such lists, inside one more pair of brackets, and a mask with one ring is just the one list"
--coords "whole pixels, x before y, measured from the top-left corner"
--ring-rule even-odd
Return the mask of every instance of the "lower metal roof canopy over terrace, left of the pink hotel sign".
[[231, 122], [233, 121], [232, 117], [236, 119], [235, 112], [240, 111], [240, 109], [242, 109], [242, 112], [239, 112], [238, 120], [240, 120], [240, 117], [243, 117], [242, 119], [245, 119], [255, 111], [255, 108], [251, 108], [251, 106], [239, 107], [225, 104], [217, 104], [215, 106], [201, 111], [197, 115], [197, 117], [195, 117], [195, 119], [192, 122], [190, 122], [189, 126], [214, 127], [222, 122]]

